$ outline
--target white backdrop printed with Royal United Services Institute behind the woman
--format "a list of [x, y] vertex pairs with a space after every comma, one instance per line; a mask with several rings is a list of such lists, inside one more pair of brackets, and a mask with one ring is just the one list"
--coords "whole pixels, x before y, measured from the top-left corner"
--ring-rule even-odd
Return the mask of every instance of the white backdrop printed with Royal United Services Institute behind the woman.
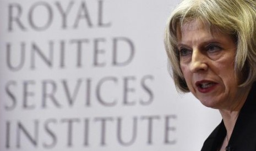
[[0, 1], [0, 150], [200, 150], [218, 111], [178, 94], [178, 1]]

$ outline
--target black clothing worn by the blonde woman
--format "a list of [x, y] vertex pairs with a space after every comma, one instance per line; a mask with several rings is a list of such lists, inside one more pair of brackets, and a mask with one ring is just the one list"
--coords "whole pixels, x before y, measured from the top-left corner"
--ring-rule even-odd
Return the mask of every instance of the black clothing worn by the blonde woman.
[[[205, 140], [201, 151], [219, 150], [226, 138], [226, 128], [223, 120]], [[229, 150], [228, 150], [229, 149]], [[256, 151], [256, 84], [254, 83], [244, 103], [230, 140], [228, 151]]]

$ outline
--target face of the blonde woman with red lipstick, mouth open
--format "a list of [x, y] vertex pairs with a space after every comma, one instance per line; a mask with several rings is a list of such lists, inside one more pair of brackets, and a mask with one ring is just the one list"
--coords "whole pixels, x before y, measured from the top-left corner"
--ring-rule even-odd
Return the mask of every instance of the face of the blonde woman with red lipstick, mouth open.
[[247, 94], [235, 78], [232, 37], [193, 20], [177, 28], [181, 70], [189, 90], [207, 107], [236, 108]]

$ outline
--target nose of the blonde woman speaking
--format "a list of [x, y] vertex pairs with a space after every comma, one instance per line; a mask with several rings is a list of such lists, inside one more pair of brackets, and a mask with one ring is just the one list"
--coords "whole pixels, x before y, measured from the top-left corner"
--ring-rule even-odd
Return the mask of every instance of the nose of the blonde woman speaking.
[[190, 71], [198, 73], [207, 71], [208, 65], [206, 63], [206, 57], [199, 50], [193, 50], [192, 59], [190, 62]]

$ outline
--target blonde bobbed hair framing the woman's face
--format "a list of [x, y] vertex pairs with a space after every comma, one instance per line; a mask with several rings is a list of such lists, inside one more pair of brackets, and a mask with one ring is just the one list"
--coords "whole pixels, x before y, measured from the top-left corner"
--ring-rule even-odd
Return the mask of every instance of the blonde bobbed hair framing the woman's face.
[[192, 20], [199, 20], [209, 31], [217, 29], [235, 39], [238, 86], [251, 85], [256, 80], [256, 1], [184, 0], [172, 11], [165, 28], [165, 49], [170, 73], [180, 92], [189, 89], [179, 64], [177, 27]]

